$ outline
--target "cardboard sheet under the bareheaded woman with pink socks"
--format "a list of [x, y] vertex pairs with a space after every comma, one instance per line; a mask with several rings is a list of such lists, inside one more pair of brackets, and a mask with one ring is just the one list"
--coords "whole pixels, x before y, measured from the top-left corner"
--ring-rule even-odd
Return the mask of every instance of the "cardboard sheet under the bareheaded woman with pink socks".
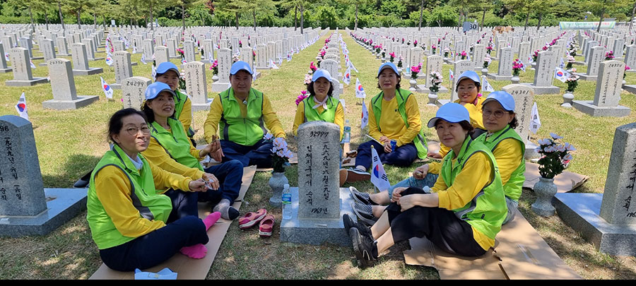
[[[237, 210], [240, 209], [241, 201], [245, 197], [245, 193], [247, 193], [249, 185], [252, 184], [255, 172], [256, 166], [243, 168], [243, 184], [241, 184], [241, 191], [237, 200], [232, 205]], [[205, 218], [206, 215], [209, 215], [211, 208], [212, 206], [209, 203], [199, 203], [199, 218]], [[230, 229], [230, 224], [231, 221], [220, 219], [210, 228], [210, 230], [208, 230], [208, 237], [210, 238], [210, 241], [206, 244], [206, 247], [208, 248], [208, 254], [206, 257], [201, 259], [192, 259], [184, 256], [183, 254], [177, 253], [175, 256], [172, 256], [172, 258], [158, 266], [142, 270], [157, 273], [159, 270], [167, 267], [177, 273], [177, 279], [179, 280], [205, 279], [210, 267], [212, 266], [214, 258], [216, 257], [220, 244], [223, 242], [225, 234], [228, 233], [228, 230]], [[102, 266], [100, 266], [100, 268], [95, 271], [89, 279], [133, 280], [134, 278], [134, 271], [119, 272], [108, 268], [108, 266], [102, 263]]]

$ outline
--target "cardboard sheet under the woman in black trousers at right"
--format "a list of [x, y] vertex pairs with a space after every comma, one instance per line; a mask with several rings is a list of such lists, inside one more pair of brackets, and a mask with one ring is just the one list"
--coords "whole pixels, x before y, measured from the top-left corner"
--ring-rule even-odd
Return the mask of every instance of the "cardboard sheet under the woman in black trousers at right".
[[425, 238], [409, 242], [411, 250], [404, 251], [406, 264], [436, 268], [442, 280], [582, 279], [550, 249], [519, 210], [497, 234], [495, 251], [490, 249], [483, 256], [449, 254]]

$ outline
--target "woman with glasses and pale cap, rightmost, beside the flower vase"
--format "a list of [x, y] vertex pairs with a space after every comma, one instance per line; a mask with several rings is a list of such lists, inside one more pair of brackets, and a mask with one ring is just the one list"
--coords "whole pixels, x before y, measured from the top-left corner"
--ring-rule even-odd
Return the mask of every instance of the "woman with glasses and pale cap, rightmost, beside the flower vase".
[[[490, 93], [483, 101], [483, 124], [486, 133], [475, 138], [475, 141], [483, 143], [495, 156], [497, 167], [501, 176], [501, 182], [506, 196], [507, 215], [503, 224], [514, 218], [519, 205], [519, 197], [526, 177], [526, 162], [524, 160], [525, 144], [521, 137], [514, 131], [517, 128], [517, 117], [514, 114], [514, 98], [505, 91]], [[390, 203], [393, 190], [399, 187], [432, 187], [435, 185], [441, 171], [441, 165], [437, 162], [422, 165], [413, 171], [413, 177], [391, 186], [388, 191], [381, 193], [362, 193], [350, 187], [353, 198], [356, 201], [356, 214], [360, 220], [372, 225], [374, 216], [379, 218], [384, 211], [381, 205]], [[361, 205], [358, 205], [361, 204]], [[358, 211], [363, 209], [366, 211]]]

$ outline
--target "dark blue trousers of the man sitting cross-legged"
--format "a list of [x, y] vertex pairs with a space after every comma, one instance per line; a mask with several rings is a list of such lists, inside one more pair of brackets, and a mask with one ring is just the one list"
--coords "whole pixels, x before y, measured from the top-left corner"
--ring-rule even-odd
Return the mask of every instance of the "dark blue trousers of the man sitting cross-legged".
[[271, 142], [261, 139], [252, 146], [240, 145], [228, 140], [220, 140], [223, 148], [223, 162], [239, 160], [243, 167], [257, 165], [258, 168], [271, 167]]

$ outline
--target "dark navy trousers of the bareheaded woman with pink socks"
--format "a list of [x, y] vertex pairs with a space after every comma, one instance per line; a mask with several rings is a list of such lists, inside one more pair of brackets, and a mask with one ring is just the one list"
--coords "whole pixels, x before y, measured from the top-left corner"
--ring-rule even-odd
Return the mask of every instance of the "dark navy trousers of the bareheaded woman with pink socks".
[[114, 270], [146, 269], [166, 261], [184, 246], [207, 244], [208, 240], [203, 221], [188, 215], [125, 244], [100, 249], [100, 257]]

